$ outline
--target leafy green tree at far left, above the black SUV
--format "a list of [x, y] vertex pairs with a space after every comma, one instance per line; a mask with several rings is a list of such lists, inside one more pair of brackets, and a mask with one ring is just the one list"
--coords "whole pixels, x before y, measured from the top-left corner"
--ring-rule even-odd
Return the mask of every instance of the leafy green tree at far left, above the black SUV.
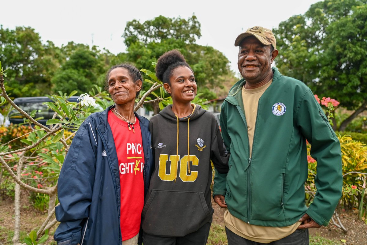
[[49, 93], [59, 54], [52, 42], [43, 44], [33, 28], [11, 30], [0, 25], [0, 60], [10, 68], [6, 86], [14, 97]]

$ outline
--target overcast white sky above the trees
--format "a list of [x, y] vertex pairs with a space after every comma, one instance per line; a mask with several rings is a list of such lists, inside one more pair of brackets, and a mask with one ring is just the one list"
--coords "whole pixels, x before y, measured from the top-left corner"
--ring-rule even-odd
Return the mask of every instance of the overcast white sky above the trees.
[[[69, 41], [93, 44], [117, 54], [126, 51], [123, 34], [127, 21], [141, 23], [159, 15], [188, 18], [193, 13], [201, 24], [198, 44], [225, 54], [237, 72], [237, 35], [255, 25], [277, 27], [292, 15], [304, 14], [318, 0], [1, 0], [3, 28], [30, 26], [43, 42], [57, 46]], [[122, 61], [121, 61], [122, 62]]]

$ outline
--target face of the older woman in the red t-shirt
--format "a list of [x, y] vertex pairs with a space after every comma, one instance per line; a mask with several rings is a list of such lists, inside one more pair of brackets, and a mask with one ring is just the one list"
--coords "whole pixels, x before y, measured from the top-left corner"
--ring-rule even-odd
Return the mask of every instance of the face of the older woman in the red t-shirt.
[[142, 81], [134, 81], [126, 68], [117, 67], [108, 76], [108, 92], [115, 104], [134, 101], [137, 91], [141, 90]]

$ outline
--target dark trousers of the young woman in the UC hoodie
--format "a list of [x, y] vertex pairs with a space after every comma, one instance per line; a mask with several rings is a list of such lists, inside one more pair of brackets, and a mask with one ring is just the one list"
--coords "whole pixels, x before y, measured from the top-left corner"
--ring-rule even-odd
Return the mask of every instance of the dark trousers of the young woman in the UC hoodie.
[[143, 245], [205, 245], [211, 223], [204, 224], [199, 230], [184, 237], [158, 237], [143, 233]]

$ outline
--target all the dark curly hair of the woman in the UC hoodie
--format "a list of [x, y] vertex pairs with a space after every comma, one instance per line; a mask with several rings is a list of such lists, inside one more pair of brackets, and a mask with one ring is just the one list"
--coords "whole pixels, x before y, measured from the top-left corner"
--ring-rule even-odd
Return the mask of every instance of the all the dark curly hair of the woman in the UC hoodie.
[[190, 68], [192, 73], [194, 73], [180, 51], [177, 49], [167, 51], [166, 53], [162, 54], [157, 61], [156, 76], [163, 83], [168, 83], [171, 85], [170, 77], [172, 75], [172, 71], [179, 66], [186, 66]]

